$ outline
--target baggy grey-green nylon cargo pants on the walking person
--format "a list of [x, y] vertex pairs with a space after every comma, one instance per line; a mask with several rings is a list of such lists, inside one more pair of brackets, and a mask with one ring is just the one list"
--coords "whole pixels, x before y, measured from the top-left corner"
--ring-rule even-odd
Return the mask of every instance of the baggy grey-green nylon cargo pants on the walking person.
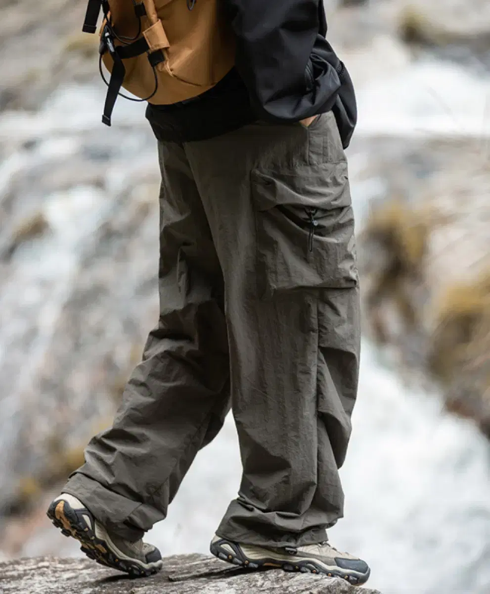
[[[65, 491], [135, 541], [233, 409], [243, 479], [219, 536], [326, 540], [358, 383], [359, 293], [332, 113], [160, 143], [160, 319]], [[210, 535], [212, 536], [212, 535]]]

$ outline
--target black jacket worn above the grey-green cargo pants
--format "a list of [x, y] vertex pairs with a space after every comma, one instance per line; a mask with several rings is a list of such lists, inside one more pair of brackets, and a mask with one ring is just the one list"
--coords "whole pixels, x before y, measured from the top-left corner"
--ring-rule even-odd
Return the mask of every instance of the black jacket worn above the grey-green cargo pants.
[[150, 105], [157, 137], [204, 140], [254, 119], [284, 124], [333, 110], [347, 147], [357, 119], [354, 88], [325, 38], [322, 0], [221, 2], [237, 38], [236, 68], [193, 100]]

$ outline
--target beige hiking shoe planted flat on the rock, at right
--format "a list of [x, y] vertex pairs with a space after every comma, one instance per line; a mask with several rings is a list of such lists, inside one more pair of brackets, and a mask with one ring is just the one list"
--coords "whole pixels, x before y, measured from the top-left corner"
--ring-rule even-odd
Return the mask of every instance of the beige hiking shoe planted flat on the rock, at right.
[[371, 573], [367, 563], [348, 553], [337, 551], [327, 542], [275, 549], [241, 545], [215, 536], [211, 541], [210, 550], [219, 559], [234, 565], [250, 569], [277, 567], [285, 571], [342, 577], [354, 586], [366, 583]]

